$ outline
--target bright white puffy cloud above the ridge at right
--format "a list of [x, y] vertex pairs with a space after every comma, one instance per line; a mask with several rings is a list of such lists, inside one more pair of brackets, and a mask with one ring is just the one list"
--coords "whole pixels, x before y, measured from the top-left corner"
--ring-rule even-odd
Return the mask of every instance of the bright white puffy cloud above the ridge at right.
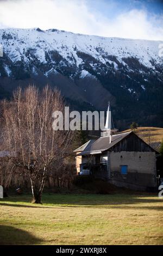
[[108, 22], [107, 26], [108, 29], [105, 27], [103, 32], [105, 35], [108, 33], [123, 38], [163, 40], [163, 16], [148, 20], [147, 13], [143, 10], [133, 9], [123, 13], [114, 21]]

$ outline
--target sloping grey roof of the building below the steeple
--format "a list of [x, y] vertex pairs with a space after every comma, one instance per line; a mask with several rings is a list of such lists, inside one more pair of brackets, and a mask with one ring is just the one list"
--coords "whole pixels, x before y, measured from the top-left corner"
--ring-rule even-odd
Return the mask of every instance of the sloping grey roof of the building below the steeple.
[[83, 150], [78, 150], [78, 151], [82, 151], [82, 153], [79, 153], [78, 155], [89, 155], [89, 154], [98, 154], [98, 153], [100, 154], [103, 151], [112, 148], [115, 144], [120, 142], [123, 138], [127, 137], [130, 133], [131, 131], [112, 135], [111, 143], [110, 143], [110, 136], [100, 137], [93, 143], [87, 144], [87, 147], [85, 147]]

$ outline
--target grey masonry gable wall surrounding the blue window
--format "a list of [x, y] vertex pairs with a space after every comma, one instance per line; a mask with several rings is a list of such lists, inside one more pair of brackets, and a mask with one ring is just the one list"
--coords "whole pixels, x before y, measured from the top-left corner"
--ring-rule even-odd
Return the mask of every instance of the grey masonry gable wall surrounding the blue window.
[[[121, 166], [128, 166], [127, 174], [121, 173]], [[146, 190], [156, 187], [156, 160], [154, 152], [110, 153], [110, 178], [115, 185], [142, 187]], [[117, 184], [116, 184], [117, 183]]]

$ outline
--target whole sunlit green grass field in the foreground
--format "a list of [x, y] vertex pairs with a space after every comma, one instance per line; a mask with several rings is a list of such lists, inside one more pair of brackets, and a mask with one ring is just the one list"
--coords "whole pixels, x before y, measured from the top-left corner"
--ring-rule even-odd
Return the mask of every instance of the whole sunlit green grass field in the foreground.
[[0, 199], [1, 245], [161, 245], [163, 199], [152, 194], [44, 194]]

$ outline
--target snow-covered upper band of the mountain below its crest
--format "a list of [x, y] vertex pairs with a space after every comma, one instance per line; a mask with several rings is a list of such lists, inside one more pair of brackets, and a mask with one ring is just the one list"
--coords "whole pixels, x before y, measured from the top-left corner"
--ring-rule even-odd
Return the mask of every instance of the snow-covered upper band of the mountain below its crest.
[[[83, 60], [78, 56], [77, 51], [84, 52], [97, 59], [102, 64], [114, 63], [108, 59], [109, 56], [116, 56], [118, 62], [127, 65], [123, 58], [134, 57], [148, 68], [155, 70], [151, 60], [157, 65], [162, 65], [162, 58], [159, 57], [159, 44], [162, 41], [134, 40], [122, 38], [105, 38], [101, 36], [90, 36], [73, 34], [71, 32], [48, 29], [42, 31], [39, 28], [33, 29], [0, 29], [0, 44], [4, 52], [8, 54], [12, 62], [22, 60], [29, 62], [24, 54], [26, 51], [33, 54], [42, 63], [47, 63], [45, 52], [57, 51], [67, 62], [77, 67]], [[53, 60], [52, 60], [53, 62]], [[116, 69], [116, 64], [115, 64]]]

